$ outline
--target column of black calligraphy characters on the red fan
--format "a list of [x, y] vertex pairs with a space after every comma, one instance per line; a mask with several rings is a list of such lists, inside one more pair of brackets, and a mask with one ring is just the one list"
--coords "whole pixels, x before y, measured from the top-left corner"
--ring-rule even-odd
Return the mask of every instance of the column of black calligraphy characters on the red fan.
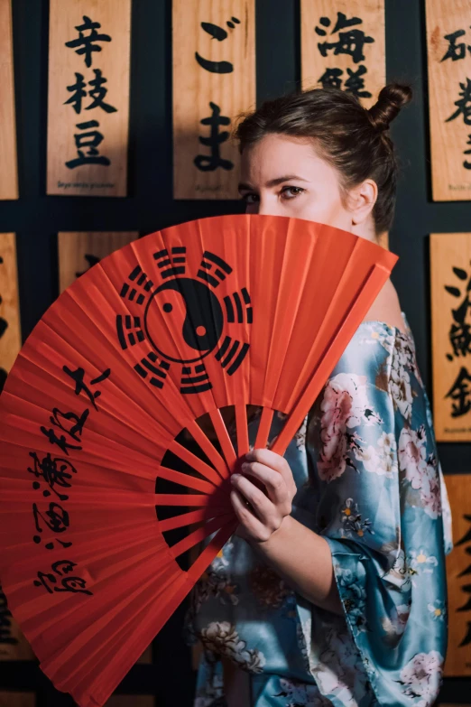
[[[52, 408], [49, 423], [40, 425], [40, 431], [54, 449], [45, 454], [30, 451], [30, 466], [27, 469], [34, 478], [32, 488], [38, 492], [38, 501], [32, 504], [35, 528], [32, 540], [38, 545], [44, 542], [45, 548], [51, 551], [68, 550], [72, 545], [68, 540], [70, 517], [66, 504], [79, 470], [75, 459], [73, 463], [69, 459], [69, 454], [75, 451], [77, 456], [77, 452], [83, 449], [84, 428], [89, 415], [99, 412], [101, 384], [110, 375], [109, 368], [93, 379], [89, 379], [82, 367], [73, 369], [64, 365], [62, 371], [73, 383], [78, 407], [74, 410]], [[84, 398], [88, 405], [85, 409], [82, 402]], [[76, 566], [77, 563], [63, 559], [51, 563], [51, 572], [38, 572], [34, 585], [44, 587], [49, 593], [71, 591], [91, 594], [87, 589], [87, 581], [73, 573]]]

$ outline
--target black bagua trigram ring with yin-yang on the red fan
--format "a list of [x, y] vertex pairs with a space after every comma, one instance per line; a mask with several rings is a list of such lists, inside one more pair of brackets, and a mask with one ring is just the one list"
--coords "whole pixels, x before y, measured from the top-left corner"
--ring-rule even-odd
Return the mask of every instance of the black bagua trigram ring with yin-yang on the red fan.
[[[252, 324], [250, 295], [242, 287], [231, 295], [217, 297], [217, 287], [230, 276], [232, 268], [208, 250], [203, 253], [196, 277], [186, 273], [186, 247], [160, 250], [153, 258], [162, 284], [154, 284], [137, 265], [121, 289], [121, 297], [133, 302], [133, 310], [137, 305], [142, 312], [116, 316], [121, 348], [150, 347], [134, 370], [151, 386], [162, 388], [171, 365], [177, 364], [181, 367], [180, 393], [210, 390], [204, 358], [215, 352], [216, 360], [232, 376], [247, 355], [248, 343], [223, 337], [223, 332], [226, 322]], [[162, 313], [177, 318], [173, 327], [162, 330]], [[155, 326], [157, 321], [160, 326]]]

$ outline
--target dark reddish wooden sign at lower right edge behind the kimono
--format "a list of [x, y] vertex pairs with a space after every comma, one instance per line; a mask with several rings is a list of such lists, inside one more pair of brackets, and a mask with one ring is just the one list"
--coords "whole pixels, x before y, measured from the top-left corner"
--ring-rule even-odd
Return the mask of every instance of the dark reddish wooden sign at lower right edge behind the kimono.
[[447, 556], [448, 653], [444, 674], [471, 675], [471, 474], [447, 474], [454, 548]]

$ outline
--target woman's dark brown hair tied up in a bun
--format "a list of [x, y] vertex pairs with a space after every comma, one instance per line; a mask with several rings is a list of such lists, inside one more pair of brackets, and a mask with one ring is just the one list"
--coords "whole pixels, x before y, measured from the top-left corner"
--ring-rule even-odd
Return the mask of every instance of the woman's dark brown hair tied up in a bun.
[[409, 86], [390, 83], [369, 109], [338, 88], [312, 88], [267, 100], [241, 116], [235, 128], [239, 150], [264, 135], [311, 138], [319, 156], [337, 169], [343, 198], [365, 179], [378, 186], [373, 218], [376, 235], [389, 230], [394, 215], [398, 165], [388, 129], [412, 98]]

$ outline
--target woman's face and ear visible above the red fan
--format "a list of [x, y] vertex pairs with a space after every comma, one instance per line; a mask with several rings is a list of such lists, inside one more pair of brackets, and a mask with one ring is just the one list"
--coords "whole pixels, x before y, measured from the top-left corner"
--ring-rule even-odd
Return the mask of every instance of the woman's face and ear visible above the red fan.
[[367, 180], [361, 187], [344, 205], [337, 170], [316, 154], [310, 140], [265, 135], [242, 153], [239, 192], [247, 213], [308, 219], [374, 237], [376, 185]]

